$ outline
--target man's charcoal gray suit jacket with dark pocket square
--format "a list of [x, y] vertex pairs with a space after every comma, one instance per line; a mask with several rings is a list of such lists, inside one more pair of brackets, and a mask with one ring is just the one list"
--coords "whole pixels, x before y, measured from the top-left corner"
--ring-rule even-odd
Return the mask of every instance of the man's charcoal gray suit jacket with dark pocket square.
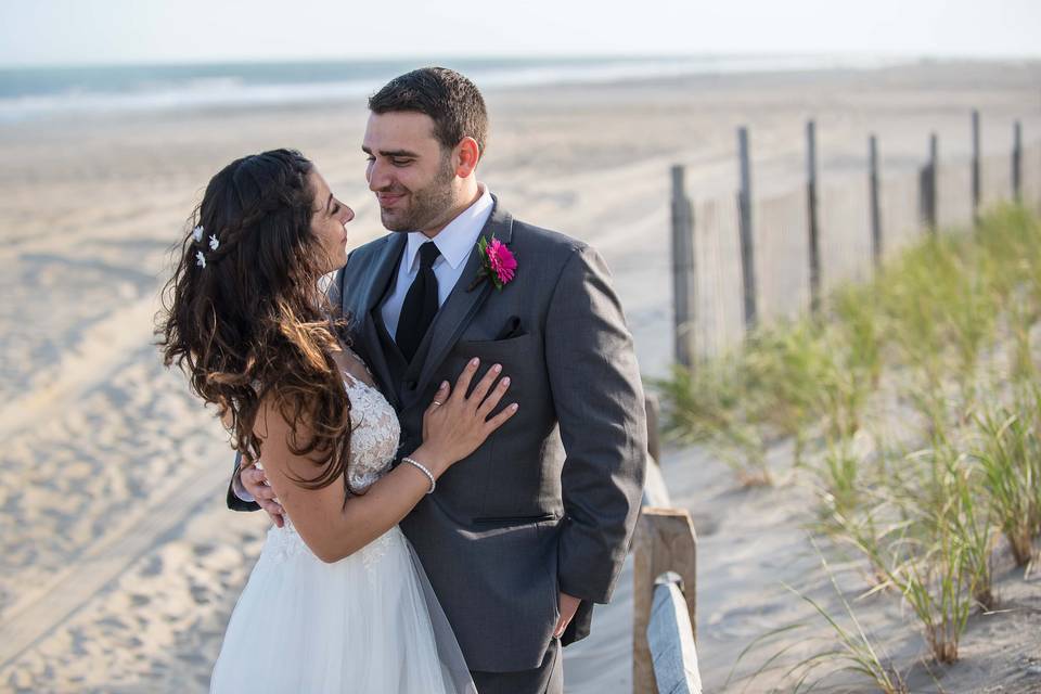
[[[557, 591], [582, 599], [565, 644], [589, 633], [629, 550], [646, 460], [640, 373], [609, 272], [590, 246], [496, 207], [481, 234], [517, 258], [516, 277], [467, 291], [476, 248], [412, 363], [383, 326], [406, 245], [391, 233], [350, 254], [331, 295], [351, 319], [354, 349], [401, 421], [401, 455], [422, 440], [423, 411], [466, 361], [512, 378], [517, 413], [438, 480], [402, 520], [473, 670], [539, 666], [560, 615]], [[248, 509], [229, 491], [229, 505]], [[253, 506], [255, 507], [255, 506]]]

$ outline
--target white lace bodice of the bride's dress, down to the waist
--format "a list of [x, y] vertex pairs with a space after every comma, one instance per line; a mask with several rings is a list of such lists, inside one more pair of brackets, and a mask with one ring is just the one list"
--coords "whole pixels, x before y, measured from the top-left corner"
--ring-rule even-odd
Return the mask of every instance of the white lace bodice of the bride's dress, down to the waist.
[[[361, 359], [350, 352], [360, 363]], [[344, 373], [344, 387], [350, 398], [350, 465], [348, 474], [350, 488], [364, 491], [374, 481], [390, 470], [398, 442], [401, 437], [401, 425], [394, 407], [387, 402], [374, 386]], [[389, 544], [399, 539], [400, 530], [391, 528], [389, 532], [372, 541], [360, 552], [365, 566], [370, 566], [388, 549]], [[268, 532], [268, 543], [264, 555], [278, 562], [301, 552], [310, 553], [304, 540], [293, 527], [288, 515], [282, 528], [272, 526]]]

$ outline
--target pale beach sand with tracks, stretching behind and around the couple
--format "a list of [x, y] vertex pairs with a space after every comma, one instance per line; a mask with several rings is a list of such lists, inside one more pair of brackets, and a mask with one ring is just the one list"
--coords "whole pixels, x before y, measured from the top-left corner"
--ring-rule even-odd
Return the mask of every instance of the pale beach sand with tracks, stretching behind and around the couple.
[[[930, 131], [942, 156], [964, 156], [974, 107], [985, 151], [1007, 151], [1015, 118], [1036, 142], [1039, 83], [1037, 63], [923, 63], [489, 91], [480, 179], [516, 217], [603, 253], [642, 370], [660, 376], [670, 165], [687, 166], [695, 198], [732, 200], [747, 125], [757, 195], [795, 190], [813, 116], [822, 178], [864, 187], [869, 132], [884, 175], [922, 164]], [[358, 102], [0, 126], [0, 689], [205, 691], [267, 519], [224, 509], [227, 436], [151, 345], [168, 250], [213, 174], [277, 146], [305, 152], [355, 208], [351, 246], [383, 234], [363, 180], [365, 116]], [[781, 580], [828, 602], [802, 530], [811, 492], [740, 490], [697, 449], [668, 449], [663, 468], [699, 534], [698, 655], [706, 691], [723, 691], [756, 637], [810, 615]], [[997, 575], [1014, 607], [974, 617], [946, 691], [1041, 687], [1041, 581]], [[898, 601], [858, 609], [905, 665], [924, 652]], [[593, 635], [565, 652], [569, 692], [631, 691], [631, 618], [630, 566]]]

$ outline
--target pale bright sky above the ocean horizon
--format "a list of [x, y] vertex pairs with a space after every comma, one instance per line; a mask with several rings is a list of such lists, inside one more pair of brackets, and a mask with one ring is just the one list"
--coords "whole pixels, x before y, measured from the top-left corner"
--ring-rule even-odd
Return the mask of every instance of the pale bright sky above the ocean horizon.
[[0, 0], [4, 67], [500, 55], [1041, 57], [1039, 36], [1041, 0]]

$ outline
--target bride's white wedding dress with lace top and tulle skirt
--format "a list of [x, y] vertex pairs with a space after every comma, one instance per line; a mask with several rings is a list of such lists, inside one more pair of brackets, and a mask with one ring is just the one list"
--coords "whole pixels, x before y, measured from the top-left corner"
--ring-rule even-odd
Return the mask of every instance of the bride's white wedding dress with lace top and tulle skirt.
[[[349, 374], [344, 384], [355, 423], [351, 486], [364, 489], [389, 470], [400, 425], [374, 387]], [[325, 564], [288, 517], [268, 531], [228, 624], [209, 691], [476, 693], [423, 567], [397, 526]]]

